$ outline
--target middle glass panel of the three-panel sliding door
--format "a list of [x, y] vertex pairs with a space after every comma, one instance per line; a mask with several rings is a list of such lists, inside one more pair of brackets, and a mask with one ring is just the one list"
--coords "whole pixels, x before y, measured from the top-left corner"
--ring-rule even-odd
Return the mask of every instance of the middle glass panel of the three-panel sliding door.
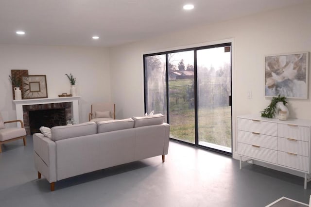
[[168, 54], [170, 137], [195, 143], [193, 50]]

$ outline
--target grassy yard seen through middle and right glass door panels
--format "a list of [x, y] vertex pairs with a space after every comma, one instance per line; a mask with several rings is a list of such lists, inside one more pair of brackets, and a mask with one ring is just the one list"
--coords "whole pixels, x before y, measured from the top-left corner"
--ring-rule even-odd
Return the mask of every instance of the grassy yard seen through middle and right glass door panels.
[[[171, 137], [185, 142], [195, 142], [195, 123], [192, 90], [193, 81], [169, 81]], [[199, 108], [199, 142], [231, 147], [231, 108]]]

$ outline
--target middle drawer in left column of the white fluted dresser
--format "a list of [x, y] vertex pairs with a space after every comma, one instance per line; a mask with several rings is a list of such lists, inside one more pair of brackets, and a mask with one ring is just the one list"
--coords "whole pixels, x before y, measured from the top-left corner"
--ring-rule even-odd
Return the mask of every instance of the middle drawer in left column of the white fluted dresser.
[[277, 137], [238, 130], [238, 142], [277, 150]]

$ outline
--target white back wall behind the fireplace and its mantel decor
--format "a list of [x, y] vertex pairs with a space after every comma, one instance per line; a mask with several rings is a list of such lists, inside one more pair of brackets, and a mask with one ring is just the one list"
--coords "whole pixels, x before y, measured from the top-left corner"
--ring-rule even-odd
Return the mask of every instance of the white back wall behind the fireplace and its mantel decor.
[[0, 112], [4, 120], [16, 119], [12, 102], [11, 69], [27, 69], [29, 75], [46, 75], [48, 97], [68, 93], [65, 76], [76, 78], [80, 122], [88, 121], [93, 102], [111, 101], [107, 48], [0, 45]]

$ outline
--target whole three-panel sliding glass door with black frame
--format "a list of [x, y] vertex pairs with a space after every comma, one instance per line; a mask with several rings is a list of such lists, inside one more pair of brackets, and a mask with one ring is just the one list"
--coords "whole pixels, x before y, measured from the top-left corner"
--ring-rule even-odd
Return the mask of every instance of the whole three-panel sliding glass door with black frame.
[[231, 43], [144, 55], [145, 111], [172, 139], [232, 153]]

